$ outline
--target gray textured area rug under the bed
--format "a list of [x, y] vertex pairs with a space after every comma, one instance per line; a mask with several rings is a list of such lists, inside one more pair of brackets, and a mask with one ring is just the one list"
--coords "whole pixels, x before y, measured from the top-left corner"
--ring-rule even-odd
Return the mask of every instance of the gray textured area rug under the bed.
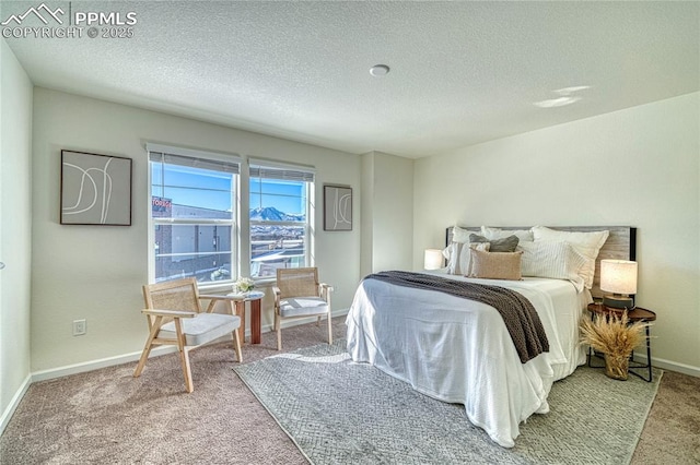
[[628, 464], [658, 389], [580, 367], [555, 383], [550, 413], [503, 449], [459, 404], [354, 363], [345, 341], [280, 354], [234, 371], [313, 464]]

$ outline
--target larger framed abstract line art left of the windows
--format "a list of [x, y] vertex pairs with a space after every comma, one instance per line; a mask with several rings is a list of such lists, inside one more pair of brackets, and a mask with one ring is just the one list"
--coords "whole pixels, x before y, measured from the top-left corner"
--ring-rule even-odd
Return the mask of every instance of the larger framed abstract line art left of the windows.
[[61, 225], [131, 225], [131, 158], [61, 151]]

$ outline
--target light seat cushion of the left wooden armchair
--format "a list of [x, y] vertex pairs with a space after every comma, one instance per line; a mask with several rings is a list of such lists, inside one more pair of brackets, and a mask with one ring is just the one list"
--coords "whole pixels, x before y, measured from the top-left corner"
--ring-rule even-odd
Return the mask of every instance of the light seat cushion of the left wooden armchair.
[[[217, 339], [226, 334], [233, 333], [241, 326], [241, 318], [222, 313], [199, 313], [195, 318], [184, 318], [183, 333], [185, 333], [186, 345], [198, 346]], [[171, 321], [161, 326], [159, 337], [175, 338], [175, 322]]]

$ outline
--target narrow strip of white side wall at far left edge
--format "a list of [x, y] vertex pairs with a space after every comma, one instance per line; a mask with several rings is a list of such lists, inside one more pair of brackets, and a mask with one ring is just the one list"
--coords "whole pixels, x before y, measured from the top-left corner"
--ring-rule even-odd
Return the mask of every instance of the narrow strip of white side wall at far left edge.
[[30, 377], [32, 82], [0, 39], [0, 432]]

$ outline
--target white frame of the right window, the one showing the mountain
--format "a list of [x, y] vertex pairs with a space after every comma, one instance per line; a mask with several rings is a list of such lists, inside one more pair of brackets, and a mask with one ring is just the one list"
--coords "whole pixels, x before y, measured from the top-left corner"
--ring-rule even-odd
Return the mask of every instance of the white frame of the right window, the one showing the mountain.
[[[254, 174], [257, 171], [257, 174]], [[267, 175], [267, 176], [264, 176]], [[269, 179], [280, 181], [301, 181], [305, 184], [306, 218], [302, 222], [261, 222], [250, 219], [248, 216], [248, 272], [256, 283], [273, 283], [276, 276], [253, 276], [253, 228], [254, 226], [291, 226], [304, 228], [304, 260], [301, 266], [314, 266], [315, 263], [315, 198], [316, 198], [316, 169], [312, 166], [280, 163], [276, 160], [250, 158], [247, 170], [248, 212], [252, 210], [250, 184], [254, 179]], [[283, 212], [287, 213], [287, 212]]]

